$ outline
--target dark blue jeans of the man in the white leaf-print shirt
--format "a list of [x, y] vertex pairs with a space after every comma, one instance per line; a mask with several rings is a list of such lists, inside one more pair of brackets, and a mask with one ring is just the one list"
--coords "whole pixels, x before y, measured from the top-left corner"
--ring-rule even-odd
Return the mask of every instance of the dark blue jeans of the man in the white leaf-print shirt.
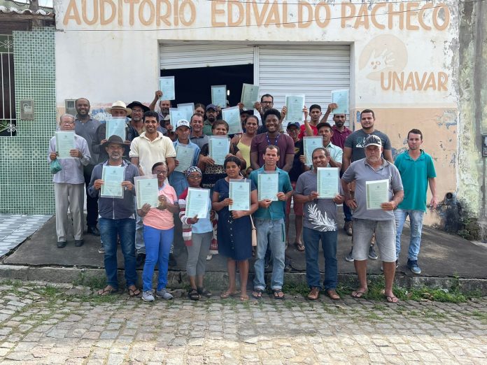
[[318, 265], [318, 251], [323, 248], [325, 256], [325, 290], [337, 289], [337, 239], [338, 231], [320, 232], [315, 229], [303, 228], [304, 253], [306, 254], [306, 282], [309, 287], [320, 289], [320, 266]]

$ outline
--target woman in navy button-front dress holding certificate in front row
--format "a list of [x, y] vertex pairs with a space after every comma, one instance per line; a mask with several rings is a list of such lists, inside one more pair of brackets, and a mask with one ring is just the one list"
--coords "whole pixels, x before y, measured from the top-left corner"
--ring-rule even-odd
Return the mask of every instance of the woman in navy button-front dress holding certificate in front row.
[[[220, 297], [240, 295], [241, 301], [247, 301], [248, 259], [252, 257], [252, 235], [250, 215], [257, 210], [257, 190], [250, 182], [250, 210], [229, 210], [234, 203], [230, 199], [230, 179], [242, 180], [240, 173], [241, 160], [235, 156], [225, 159], [223, 167], [227, 177], [216, 182], [211, 199], [213, 209], [218, 212], [218, 252], [227, 257], [228, 289]], [[248, 196], [242, 196], [248, 199]], [[237, 291], [235, 269], [239, 265], [240, 291]]]

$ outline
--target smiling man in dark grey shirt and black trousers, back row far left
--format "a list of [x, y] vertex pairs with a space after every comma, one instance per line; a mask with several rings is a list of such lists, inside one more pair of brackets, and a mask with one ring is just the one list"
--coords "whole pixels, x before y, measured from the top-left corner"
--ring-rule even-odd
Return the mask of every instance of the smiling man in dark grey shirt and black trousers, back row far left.
[[100, 231], [98, 224], [98, 197], [93, 198], [88, 194], [88, 185], [90, 185], [91, 174], [94, 166], [98, 163], [98, 154], [94, 153], [92, 143], [97, 138], [97, 129], [100, 122], [90, 117], [90, 101], [86, 98], [80, 98], [75, 101], [76, 120], [75, 131], [78, 136], [85, 138], [90, 150], [91, 160], [86, 166], [83, 166], [83, 176], [85, 178], [86, 189], [86, 225], [87, 233], [99, 236]]

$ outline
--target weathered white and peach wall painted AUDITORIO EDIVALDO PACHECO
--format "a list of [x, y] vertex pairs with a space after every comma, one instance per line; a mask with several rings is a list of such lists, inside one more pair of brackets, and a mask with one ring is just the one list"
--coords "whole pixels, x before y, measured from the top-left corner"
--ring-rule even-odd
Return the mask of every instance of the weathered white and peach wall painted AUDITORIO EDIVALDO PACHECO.
[[442, 199], [458, 189], [456, 4], [55, 1], [58, 112], [82, 95], [93, 106], [150, 102], [164, 42], [348, 43], [352, 108], [374, 108], [398, 151], [409, 129], [423, 130]]

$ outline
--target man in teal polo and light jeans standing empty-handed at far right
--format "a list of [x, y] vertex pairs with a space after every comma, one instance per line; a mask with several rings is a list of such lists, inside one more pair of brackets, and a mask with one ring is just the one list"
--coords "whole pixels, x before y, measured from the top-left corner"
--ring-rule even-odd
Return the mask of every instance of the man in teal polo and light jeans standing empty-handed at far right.
[[409, 238], [409, 252], [407, 267], [415, 274], [420, 274], [418, 266], [419, 246], [421, 244], [421, 229], [423, 228], [423, 215], [426, 211], [426, 193], [428, 183], [432, 198], [430, 205], [435, 209], [438, 205], [436, 196], [436, 172], [433, 159], [428, 153], [421, 150], [423, 134], [419, 129], [411, 129], [407, 134], [409, 150], [404, 151], [395, 159], [395, 166], [401, 174], [404, 186], [404, 200], [394, 211], [396, 223], [396, 258], [401, 252], [402, 227], [409, 215], [411, 222], [411, 237]]

